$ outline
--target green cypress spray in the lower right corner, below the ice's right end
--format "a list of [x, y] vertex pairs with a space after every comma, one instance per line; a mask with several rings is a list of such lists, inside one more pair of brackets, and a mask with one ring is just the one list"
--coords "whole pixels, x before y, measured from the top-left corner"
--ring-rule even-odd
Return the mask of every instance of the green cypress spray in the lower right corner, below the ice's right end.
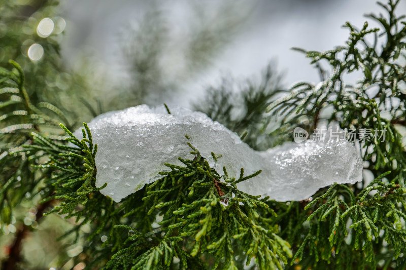
[[[368, 198], [372, 190], [378, 192]], [[358, 196], [346, 185], [331, 186], [323, 196], [304, 207], [304, 210], [311, 209], [307, 218], [309, 229], [294, 259], [301, 260], [307, 247], [316, 263], [309, 260], [311, 265], [305, 261], [303, 266], [325, 267], [323, 262], [317, 263], [320, 257], [339, 269], [374, 267], [381, 257], [376, 254], [377, 246], [382, 248], [383, 241], [389, 245], [394, 259], [398, 259], [406, 248], [406, 238], [401, 225], [404, 213], [395, 205], [404, 205], [405, 198], [404, 188], [395, 183], [384, 184], [380, 179], [374, 180]], [[355, 250], [358, 252], [354, 253]], [[348, 256], [353, 256], [351, 253], [356, 254], [354, 259], [358, 265], [347, 265]], [[404, 259], [397, 260], [397, 267], [404, 267]]]

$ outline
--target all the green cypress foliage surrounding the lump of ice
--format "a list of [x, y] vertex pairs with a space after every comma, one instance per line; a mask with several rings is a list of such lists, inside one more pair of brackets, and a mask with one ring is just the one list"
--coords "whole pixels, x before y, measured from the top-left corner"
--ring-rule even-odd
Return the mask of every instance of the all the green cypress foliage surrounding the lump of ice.
[[[346, 23], [344, 46], [300, 50], [320, 70], [319, 84], [299, 83], [275, 99], [281, 91], [268, 69], [263, 84], [243, 91], [243, 118], [231, 117], [238, 105], [221, 98], [230, 94], [224, 88], [212, 89], [199, 104], [255, 148], [290, 140], [287, 134], [296, 127], [312, 132], [338, 124], [358, 135], [368, 130], [370, 140], [357, 139], [373, 180], [333, 184], [306, 201], [276, 202], [236, 187], [261, 171], [218, 172], [207, 159], [217, 161], [221, 153], [201, 157], [189, 144], [190, 155], [179, 158], [182, 166], [165, 164], [170, 171], [159, 173], [160, 179], [115, 203], [99, 192], [105, 186], [95, 186], [97, 145], [88, 126], [83, 124], [82, 138], [75, 137], [62, 110], [30, 99], [22, 68], [10, 61], [11, 69], [0, 68], [0, 224], [11, 223], [20, 204], [32, 203], [30, 197], [41, 197], [40, 214], [76, 218], [62, 237], [85, 239], [80, 260], [88, 269], [406, 268], [400, 132], [406, 123], [406, 22], [395, 14], [398, 3], [379, 4], [385, 16], [369, 15], [379, 29]], [[347, 83], [350, 73], [359, 80]]]

